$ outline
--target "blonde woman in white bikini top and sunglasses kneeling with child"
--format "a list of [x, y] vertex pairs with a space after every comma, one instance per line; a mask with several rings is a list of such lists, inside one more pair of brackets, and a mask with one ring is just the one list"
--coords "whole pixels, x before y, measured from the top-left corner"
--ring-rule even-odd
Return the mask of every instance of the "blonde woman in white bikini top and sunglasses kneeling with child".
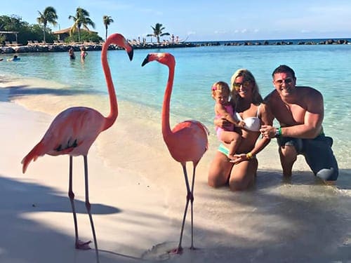
[[[234, 161], [227, 157], [227, 145], [222, 143], [218, 147], [209, 169], [208, 185], [222, 187], [229, 184], [230, 189], [235, 191], [247, 189], [253, 183], [258, 168], [256, 154], [262, 151], [270, 139], [258, 140], [260, 126], [267, 124], [268, 118], [253, 74], [247, 69], [238, 69], [232, 76], [231, 86], [232, 103], [237, 118], [246, 125], [241, 129], [241, 143], [234, 155]], [[223, 118], [215, 121], [215, 125], [220, 127], [229, 124]]]

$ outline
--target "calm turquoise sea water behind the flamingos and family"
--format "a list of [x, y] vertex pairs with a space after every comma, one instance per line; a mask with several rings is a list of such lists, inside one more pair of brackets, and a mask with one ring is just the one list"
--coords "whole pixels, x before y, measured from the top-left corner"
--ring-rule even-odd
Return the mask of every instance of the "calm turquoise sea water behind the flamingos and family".
[[[291, 66], [298, 85], [312, 86], [324, 95], [324, 130], [334, 139], [333, 150], [339, 166], [348, 168], [351, 163], [348, 156], [351, 149], [351, 45], [134, 50], [133, 62], [128, 61], [123, 50], [110, 51], [109, 62], [119, 101], [150, 108], [155, 118], [159, 118], [168, 69], [157, 62], [141, 67], [149, 52], [169, 52], [176, 57], [171, 114], [180, 120], [198, 119], [210, 127], [213, 126], [213, 99], [209, 90], [213, 82], [230, 82], [233, 72], [244, 67], [256, 76], [260, 92], [265, 96], [273, 88], [273, 69], [281, 64]], [[72, 95], [107, 95], [98, 51], [89, 52], [84, 63], [79, 59], [69, 60], [67, 53], [21, 53], [20, 62], [6, 62], [10, 57], [1, 55], [4, 61], [0, 62], [0, 77], [44, 79], [51, 81], [52, 86], [60, 86], [60, 92]]]

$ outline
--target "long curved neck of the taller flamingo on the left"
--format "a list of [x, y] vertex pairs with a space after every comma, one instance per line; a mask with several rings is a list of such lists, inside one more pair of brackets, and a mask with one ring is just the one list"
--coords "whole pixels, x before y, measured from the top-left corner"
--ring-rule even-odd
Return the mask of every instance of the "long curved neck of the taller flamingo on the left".
[[114, 91], [114, 85], [112, 81], [110, 67], [107, 62], [107, 50], [110, 46], [111, 41], [107, 39], [105, 44], [102, 46], [101, 51], [101, 62], [102, 62], [102, 69], [105, 74], [106, 84], [107, 84], [107, 91], [110, 97], [110, 114], [105, 118], [105, 126], [103, 130], [110, 128], [114, 121], [116, 121], [118, 116], [118, 105], [117, 105], [117, 97], [116, 92]]

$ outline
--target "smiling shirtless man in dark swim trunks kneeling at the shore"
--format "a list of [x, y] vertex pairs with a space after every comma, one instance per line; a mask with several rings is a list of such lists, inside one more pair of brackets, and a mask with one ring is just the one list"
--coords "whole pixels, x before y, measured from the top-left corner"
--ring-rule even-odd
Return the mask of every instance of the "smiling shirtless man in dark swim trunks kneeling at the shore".
[[[296, 86], [293, 69], [281, 65], [272, 74], [275, 90], [265, 97], [265, 107], [271, 112], [271, 126], [263, 125], [263, 137], [277, 137], [283, 175], [291, 176], [293, 163], [303, 154], [312, 172], [332, 184], [338, 178], [338, 163], [331, 150], [333, 139], [323, 133], [323, 96], [310, 87]], [[273, 119], [280, 123], [272, 126]]]

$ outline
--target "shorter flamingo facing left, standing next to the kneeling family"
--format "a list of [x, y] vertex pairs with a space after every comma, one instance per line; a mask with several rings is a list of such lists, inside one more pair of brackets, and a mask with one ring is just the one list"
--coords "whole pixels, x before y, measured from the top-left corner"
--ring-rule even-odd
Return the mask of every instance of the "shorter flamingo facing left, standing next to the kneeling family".
[[[180, 239], [178, 243], [178, 248], [171, 250], [172, 253], [180, 254], [183, 251], [182, 248], [182, 238], [183, 229], [185, 224], [185, 218], [187, 216], [187, 208], [189, 201], [191, 203], [191, 228], [192, 228], [192, 243], [190, 249], [194, 250], [193, 242], [193, 203], [194, 203], [194, 179], [195, 170], [197, 164], [201, 160], [205, 151], [208, 149], [208, 129], [204, 124], [199, 121], [189, 120], [178, 123], [172, 130], [169, 124], [169, 110], [171, 93], [173, 88], [174, 70], [176, 67], [176, 60], [170, 53], [149, 53], [142, 63], [142, 67], [148, 62], [156, 60], [161, 64], [168, 67], [168, 81], [166, 85], [166, 90], [164, 93], [164, 102], [162, 106], [162, 135], [164, 137], [164, 142], [168, 148], [173, 159], [178, 161], [183, 167], [183, 173], [185, 177], [185, 186], [187, 187], [187, 197], [185, 203], [185, 210], [183, 215], [183, 223], [180, 230]], [[190, 188], [189, 180], [187, 177], [187, 161], [192, 162], [192, 186]]]

